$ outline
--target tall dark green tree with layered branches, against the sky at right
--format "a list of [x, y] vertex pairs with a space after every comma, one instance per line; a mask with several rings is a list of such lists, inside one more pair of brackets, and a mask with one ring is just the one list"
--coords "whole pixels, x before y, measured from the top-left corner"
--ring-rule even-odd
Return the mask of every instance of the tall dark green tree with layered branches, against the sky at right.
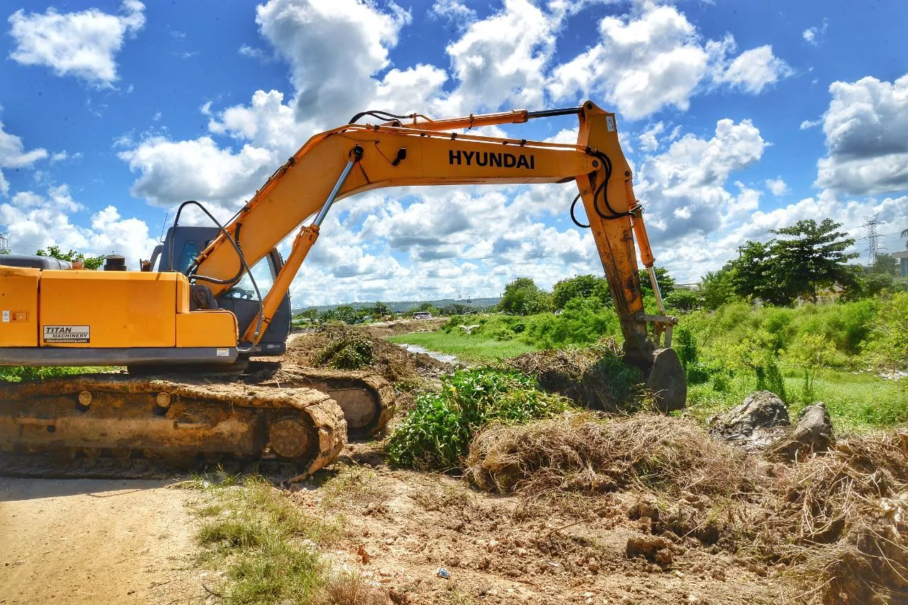
[[837, 229], [842, 223], [824, 219], [798, 221], [770, 233], [784, 237], [767, 243], [750, 242], [732, 262], [732, 283], [739, 296], [755, 296], [773, 304], [790, 304], [799, 296], [816, 302], [820, 289], [854, 284], [848, 261], [858, 253], [844, 251], [854, 239]]

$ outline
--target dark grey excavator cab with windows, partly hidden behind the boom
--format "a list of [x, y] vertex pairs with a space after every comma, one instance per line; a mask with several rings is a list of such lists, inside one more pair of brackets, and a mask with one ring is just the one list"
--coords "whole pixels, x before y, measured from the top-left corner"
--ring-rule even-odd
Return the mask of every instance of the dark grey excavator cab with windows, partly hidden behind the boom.
[[[202, 250], [218, 236], [217, 227], [194, 227], [177, 225], [167, 230], [163, 243], [154, 248], [152, 260], [148, 264], [150, 271], [178, 271], [189, 276], [192, 262]], [[240, 333], [246, 331], [259, 316], [262, 298], [271, 291], [278, 273], [283, 268], [283, 258], [277, 250], [271, 249], [262, 259], [252, 265], [250, 273], [244, 273], [239, 282], [213, 299], [212, 308], [226, 309], [236, 316]], [[205, 288], [202, 283], [192, 286], [193, 289]], [[256, 287], [258, 293], [256, 293]], [[194, 299], [193, 299], [194, 300]], [[287, 335], [291, 326], [290, 294], [286, 293], [278, 304], [277, 311], [271, 318], [267, 329], [252, 350], [246, 356], [282, 355], [287, 350]]]

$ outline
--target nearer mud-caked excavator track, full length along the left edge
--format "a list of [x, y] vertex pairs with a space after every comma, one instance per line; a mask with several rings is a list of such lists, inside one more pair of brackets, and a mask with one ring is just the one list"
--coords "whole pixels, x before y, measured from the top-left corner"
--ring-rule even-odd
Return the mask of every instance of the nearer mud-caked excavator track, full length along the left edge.
[[140, 478], [266, 464], [299, 480], [346, 444], [341, 406], [308, 386], [128, 374], [0, 387], [0, 474]]

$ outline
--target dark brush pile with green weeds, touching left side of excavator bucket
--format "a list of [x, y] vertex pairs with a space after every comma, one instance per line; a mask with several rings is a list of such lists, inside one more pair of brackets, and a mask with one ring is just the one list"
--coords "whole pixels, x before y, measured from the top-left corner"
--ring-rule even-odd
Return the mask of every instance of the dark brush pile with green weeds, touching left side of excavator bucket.
[[640, 372], [621, 361], [621, 347], [603, 339], [590, 347], [524, 353], [508, 360], [519, 372], [536, 376], [539, 387], [593, 410], [646, 408]]

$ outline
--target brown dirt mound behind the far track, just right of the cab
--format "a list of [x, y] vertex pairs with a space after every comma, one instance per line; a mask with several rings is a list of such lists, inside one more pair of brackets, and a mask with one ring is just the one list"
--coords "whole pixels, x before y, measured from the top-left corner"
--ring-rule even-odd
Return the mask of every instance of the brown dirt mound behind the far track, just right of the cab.
[[340, 361], [340, 367], [351, 369], [348, 362], [357, 362], [355, 369], [377, 372], [398, 386], [454, 370], [449, 363], [386, 342], [374, 328], [343, 323], [329, 323], [317, 332], [300, 334], [288, 345], [286, 357], [312, 368], [339, 367], [336, 362]]

